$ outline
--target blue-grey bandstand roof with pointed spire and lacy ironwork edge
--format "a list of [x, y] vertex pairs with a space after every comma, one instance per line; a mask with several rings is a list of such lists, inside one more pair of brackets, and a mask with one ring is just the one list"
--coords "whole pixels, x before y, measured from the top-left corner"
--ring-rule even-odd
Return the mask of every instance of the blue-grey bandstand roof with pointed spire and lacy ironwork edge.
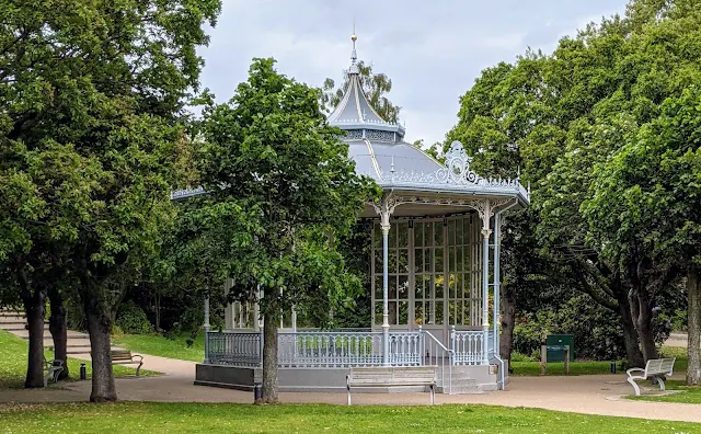
[[[398, 123], [384, 121], [370, 105], [363, 91], [357, 66], [355, 43], [348, 83], [341, 102], [329, 115], [329, 124], [345, 132], [348, 157], [356, 163], [356, 172], [370, 176], [386, 194], [402, 197], [405, 204], [397, 216], [429, 216], [460, 213], [474, 199], [491, 199], [499, 204], [527, 206], [530, 192], [518, 176], [515, 179], [483, 178], [470, 169], [472, 158], [459, 141], [453, 141], [440, 163], [423, 150], [404, 141], [405, 129]], [[203, 194], [202, 187], [171, 193], [172, 199]], [[440, 205], [427, 207], [426, 205]], [[433, 208], [433, 209], [430, 209]], [[364, 217], [375, 216], [368, 206]]]

